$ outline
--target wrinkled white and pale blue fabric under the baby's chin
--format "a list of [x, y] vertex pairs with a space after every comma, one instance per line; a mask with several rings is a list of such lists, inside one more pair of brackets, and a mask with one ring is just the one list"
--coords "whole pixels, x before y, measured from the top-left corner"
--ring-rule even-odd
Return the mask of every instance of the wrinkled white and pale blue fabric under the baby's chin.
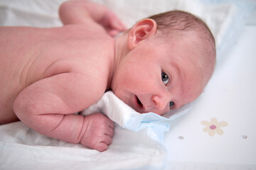
[[[174, 114], [175, 116], [173, 116], [176, 118], [179, 114], [186, 113], [186, 111], [189, 111], [188, 107], [178, 111], [174, 110], [171, 114]], [[92, 113], [104, 113], [122, 128], [135, 132], [148, 128], [147, 135], [152, 140], [160, 143], [164, 142], [164, 132], [169, 130], [170, 121], [174, 120], [172, 117], [168, 119], [155, 113], [137, 113], [115, 96], [112, 91], [107, 91], [97, 103], [82, 111], [82, 115]]]

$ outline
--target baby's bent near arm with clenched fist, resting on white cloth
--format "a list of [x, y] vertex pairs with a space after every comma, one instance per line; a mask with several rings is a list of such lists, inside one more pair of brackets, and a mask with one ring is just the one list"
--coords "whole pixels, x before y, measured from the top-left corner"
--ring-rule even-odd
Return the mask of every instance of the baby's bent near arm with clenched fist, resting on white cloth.
[[[100, 98], [86, 80], [82, 74], [68, 72], [37, 81], [18, 94], [14, 111], [23, 123], [43, 135], [105, 151], [112, 142], [112, 120], [101, 113], [71, 114]], [[85, 87], [90, 91], [83, 90]]]

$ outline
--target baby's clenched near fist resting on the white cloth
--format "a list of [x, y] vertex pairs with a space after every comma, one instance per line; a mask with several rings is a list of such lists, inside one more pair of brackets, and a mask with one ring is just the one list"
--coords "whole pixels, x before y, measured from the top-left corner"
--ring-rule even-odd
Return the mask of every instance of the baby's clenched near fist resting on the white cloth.
[[80, 143], [100, 152], [107, 150], [112, 143], [114, 122], [101, 113], [94, 113], [85, 116], [85, 125], [87, 128]]

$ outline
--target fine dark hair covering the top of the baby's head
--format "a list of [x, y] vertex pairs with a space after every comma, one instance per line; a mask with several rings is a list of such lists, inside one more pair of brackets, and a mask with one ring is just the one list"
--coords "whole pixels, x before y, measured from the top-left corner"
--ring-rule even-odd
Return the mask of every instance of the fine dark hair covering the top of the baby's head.
[[169, 11], [149, 18], [156, 21], [156, 36], [159, 38], [165, 40], [175, 40], [175, 38], [192, 39], [199, 53], [191, 60], [197, 60], [198, 63], [195, 64], [202, 68], [206, 78], [203, 86], [206, 86], [213, 74], [216, 56], [215, 40], [206, 23], [201, 18], [185, 11]]

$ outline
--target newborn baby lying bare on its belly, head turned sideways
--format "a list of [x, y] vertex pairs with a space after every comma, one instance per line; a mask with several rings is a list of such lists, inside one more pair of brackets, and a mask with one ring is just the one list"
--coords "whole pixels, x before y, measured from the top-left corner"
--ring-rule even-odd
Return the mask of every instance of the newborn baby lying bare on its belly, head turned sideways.
[[1, 124], [21, 120], [102, 152], [112, 143], [112, 120], [74, 113], [105, 91], [139, 113], [161, 115], [195, 100], [213, 74], [213, 35], [190, 13], [161, 13], [129, 30], [90, 1], [65, 2], [59, 13], [60, 28], [0, 28]]

